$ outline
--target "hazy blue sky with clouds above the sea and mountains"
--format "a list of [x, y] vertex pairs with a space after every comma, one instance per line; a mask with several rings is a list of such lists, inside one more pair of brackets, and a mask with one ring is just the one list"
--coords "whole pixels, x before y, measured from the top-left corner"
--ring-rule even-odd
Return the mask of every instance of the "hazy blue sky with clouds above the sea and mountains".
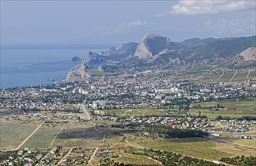
[[1, 45], [97, 47], [156, 33], [188, 38], [255, 35], [255, 1], [1, 0]]

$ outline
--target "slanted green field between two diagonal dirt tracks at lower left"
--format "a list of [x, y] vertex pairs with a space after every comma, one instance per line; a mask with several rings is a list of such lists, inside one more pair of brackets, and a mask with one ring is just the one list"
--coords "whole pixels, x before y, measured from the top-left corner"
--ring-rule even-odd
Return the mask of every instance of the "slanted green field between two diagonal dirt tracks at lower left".
[[64, 124], [57, 124], [57, 126], [52, 128], [43, 124], [42, 127], [39, 128], [39, 131], [36, 131], [36, 133], [33, 134], [22, 147], [48, 148], [63, 125]]

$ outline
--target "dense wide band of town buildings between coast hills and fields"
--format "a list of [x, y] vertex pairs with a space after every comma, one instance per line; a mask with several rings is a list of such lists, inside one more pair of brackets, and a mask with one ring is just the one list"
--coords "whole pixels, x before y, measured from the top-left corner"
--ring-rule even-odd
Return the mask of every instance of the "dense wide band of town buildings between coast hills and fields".
[[174, 100], [199, 102], [255, 96], [255, 91], [243, 85], [202, 85], [194, 81], [175, 82], [167, 78], [154, 81], [133, 77], [120, 78], [118, 81], [102, 78], [94, 82], [2, 89], [0, 108], [78, 111], [79, 108], [70, 105], [87, 103], [93, 109], [136, 108], [145, 105], [170, 105]]

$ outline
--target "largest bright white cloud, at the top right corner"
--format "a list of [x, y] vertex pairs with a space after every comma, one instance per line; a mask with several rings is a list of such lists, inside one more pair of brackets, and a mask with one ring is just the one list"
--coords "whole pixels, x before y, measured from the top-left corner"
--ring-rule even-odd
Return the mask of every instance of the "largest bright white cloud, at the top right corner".
[[157, 14], [162, 17], [166, 14], [218, 14], [223, 11], [246, 11], [255, 9], [256, 2], [254, 0], [230, 1], [230, 0], [179, 0], [176, 5], [171, 7], [171, 10]]

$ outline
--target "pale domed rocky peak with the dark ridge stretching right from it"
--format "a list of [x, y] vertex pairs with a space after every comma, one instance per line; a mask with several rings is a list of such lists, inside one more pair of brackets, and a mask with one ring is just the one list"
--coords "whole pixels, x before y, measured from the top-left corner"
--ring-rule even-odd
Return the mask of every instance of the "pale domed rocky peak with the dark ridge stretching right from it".
[[242, 38], [192, 38], [184, 42], [171, 42], [160, 35], [145, 35], [133, 57], [148, 63], [212, 63], [221, 58], [232, 58], [247, 48], [254, 48], [255, 36]]

